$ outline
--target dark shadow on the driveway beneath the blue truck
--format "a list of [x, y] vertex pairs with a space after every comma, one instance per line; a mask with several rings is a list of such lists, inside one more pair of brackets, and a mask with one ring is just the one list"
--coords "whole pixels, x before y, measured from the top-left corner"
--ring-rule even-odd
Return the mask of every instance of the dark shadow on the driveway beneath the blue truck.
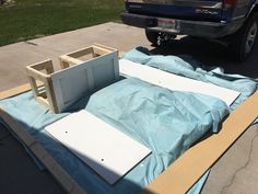
[[184, 36], [160, 48], [151, 50], [161, 55], [189, 55], [206, 66], [220, 66], [226, 73], [238, 73], [258, 78], [258, 44], [245, 62], [235, 62], [226, 47], [204, 39]]

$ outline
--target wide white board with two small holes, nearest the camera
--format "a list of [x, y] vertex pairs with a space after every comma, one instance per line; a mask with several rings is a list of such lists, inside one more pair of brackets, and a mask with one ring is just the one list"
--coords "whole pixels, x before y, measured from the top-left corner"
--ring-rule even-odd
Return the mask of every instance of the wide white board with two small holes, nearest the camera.
[[84, 110], [48, 125], [46, 130], [109, 184], [151, 153], [145, 146]]

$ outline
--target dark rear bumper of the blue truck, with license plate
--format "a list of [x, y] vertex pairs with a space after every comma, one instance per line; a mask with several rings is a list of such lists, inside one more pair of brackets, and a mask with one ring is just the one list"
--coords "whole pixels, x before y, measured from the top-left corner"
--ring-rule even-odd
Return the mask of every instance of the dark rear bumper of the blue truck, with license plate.
[[[163, 19], [149, 15], [140, 15], [125, 12], [121, 14], [125, 24], [149, 28], [153, 31], [166, 32], [171, 34], [191, 35], [207, 38], [219, 38], [236, 32], [243, 24], [244, 19], [225, 22], [189, 21], [178, 19]], [[160, 25], [160, 20], [175, 23], [173, 27]]]

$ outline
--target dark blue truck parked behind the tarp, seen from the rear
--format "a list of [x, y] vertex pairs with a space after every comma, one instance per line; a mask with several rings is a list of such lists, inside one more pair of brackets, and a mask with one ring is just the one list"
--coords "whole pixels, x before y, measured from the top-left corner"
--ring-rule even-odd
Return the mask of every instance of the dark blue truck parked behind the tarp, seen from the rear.
[[176, 35], [215, 39], [238, 61], [251, 53], [258, 31], [258, 0], [126, 0], [124, 23], [145, 28], [155, 46]]

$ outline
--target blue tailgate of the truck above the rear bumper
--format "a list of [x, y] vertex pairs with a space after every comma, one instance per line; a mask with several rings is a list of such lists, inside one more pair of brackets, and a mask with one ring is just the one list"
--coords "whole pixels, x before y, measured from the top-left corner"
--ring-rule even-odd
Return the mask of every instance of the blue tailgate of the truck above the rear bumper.
[[222, 0], [127, 0], [131, 13], [185, 20], [220, 21]]

